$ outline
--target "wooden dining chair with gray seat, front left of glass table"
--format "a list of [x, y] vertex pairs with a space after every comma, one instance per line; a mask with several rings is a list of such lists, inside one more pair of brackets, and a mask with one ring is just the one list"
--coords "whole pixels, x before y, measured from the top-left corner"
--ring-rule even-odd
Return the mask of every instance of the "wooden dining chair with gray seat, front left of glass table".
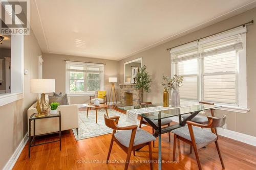
[[113, 129], [110, 148], [109, 148], [109, 154], [108, 154], [108, 157], [106, 158], [106, 162], [107, 163], [109, 162], [114, 141], [127, 154], [125, 167], [124, 167], [125, 170], [128, 168], [132, 151], [134, 152], [134, 155], [135, 155], [135, 150], [142, 148], [145, 145], [148, 145], [148, 151], [150, 153], [150, 169], [153, 169], [151, 141], [156, 140], [156, 138], [152, 134], [148, 133], [147, 131], [138, 128], [137, 125], [119, 127], [118, 120], [119, 120], [119, 116], [108, 118], [104, 114], [105, 125]]

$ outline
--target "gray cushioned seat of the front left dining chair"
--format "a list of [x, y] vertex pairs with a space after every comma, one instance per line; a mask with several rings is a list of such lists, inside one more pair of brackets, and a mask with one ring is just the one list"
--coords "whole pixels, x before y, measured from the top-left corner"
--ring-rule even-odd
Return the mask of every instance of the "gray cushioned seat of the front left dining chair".
[[[117, 131], [114, 135], [115, 138], [125, 147], [129, 147], [130, 140], [131, 140], [132, 130], [124, 130], [124, 131]], [[142, 143], [147, 143], [150, 141], [156, 140], [155, 136], [148, 133], [147, 131], [137, 128], [135, 139], [133, 145], [139, 145]]]

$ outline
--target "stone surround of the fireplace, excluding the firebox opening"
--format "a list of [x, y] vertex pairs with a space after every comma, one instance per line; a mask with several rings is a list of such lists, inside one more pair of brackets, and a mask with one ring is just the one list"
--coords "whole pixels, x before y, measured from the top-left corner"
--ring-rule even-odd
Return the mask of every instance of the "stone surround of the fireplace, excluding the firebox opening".
[[142, 101], [142, 93], [141, 90], [135, 88], [135, 84], [119, 84], [120, 89], [120, 104], [126, 104], [125, 93], [133, 93], [133, 105], [139, 105]]

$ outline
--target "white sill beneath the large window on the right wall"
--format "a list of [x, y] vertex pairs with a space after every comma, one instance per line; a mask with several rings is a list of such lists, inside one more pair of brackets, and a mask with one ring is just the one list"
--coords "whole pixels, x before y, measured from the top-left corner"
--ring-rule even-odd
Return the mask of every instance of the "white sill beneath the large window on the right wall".
[[[190, 100], [181, 100], [181, 103], [187, 103], [187, 104], [198, 104], [196, 101], [190, 101]], [[227, 105], [220, 105], [215, 104], [216, 106], [221, 106], [220, 108], [217, 108], [217, 110], [225, 110], [230, 112], [237, 112], [237, 113], [247, 113], [250, 111], [250, 108], [243, 108], [243, 107], [237, 107], [237, 106], [227, 106]]]

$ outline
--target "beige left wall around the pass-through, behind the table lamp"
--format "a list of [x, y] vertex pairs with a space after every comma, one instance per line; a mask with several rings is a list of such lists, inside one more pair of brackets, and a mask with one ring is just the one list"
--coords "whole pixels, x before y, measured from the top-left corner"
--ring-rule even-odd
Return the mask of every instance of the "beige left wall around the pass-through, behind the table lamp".
[[0, 107], [0, 169], [8, 162], [27, 133], [27, 109], [37, 96], [30, 93], [29, 79], [38, 78], [38, 56], [41, 55], [41, 50], [32, 29], [24, 41], [24, 68], [28, 69], [28, 75], [24, 75], [24, 99]]

